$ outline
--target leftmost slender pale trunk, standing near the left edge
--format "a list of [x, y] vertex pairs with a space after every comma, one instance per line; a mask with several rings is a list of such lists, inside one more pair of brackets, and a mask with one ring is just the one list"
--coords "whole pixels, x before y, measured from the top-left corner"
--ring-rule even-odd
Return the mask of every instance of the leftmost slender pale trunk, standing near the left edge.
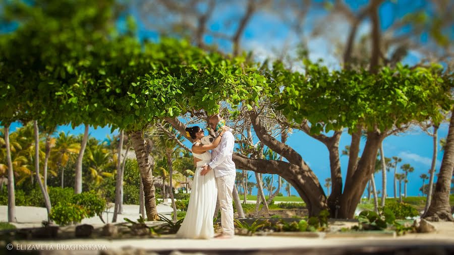
[[17, 222], [16, 219], [16, 196], [14, 193], [14, 171], [11, 160], [10, 147], [10, 123], [5, 123], [5, 146], [8, 161], [8, 222]]

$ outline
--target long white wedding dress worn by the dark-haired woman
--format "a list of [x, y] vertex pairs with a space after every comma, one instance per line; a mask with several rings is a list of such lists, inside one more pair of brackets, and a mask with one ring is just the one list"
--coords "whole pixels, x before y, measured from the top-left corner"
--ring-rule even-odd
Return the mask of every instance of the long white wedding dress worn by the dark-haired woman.
[[191, 196], [189, 198], [188, 211], [180, 229], [178, 238], [212, 238], [214, 237], [213, 216], [217, 200], [217, 186], [214, 171], [200, 175], [200, 168], [211, 161], [209, 151], [203, 154], [193, 153], [197, 162], [197, 168], [192, 182]]

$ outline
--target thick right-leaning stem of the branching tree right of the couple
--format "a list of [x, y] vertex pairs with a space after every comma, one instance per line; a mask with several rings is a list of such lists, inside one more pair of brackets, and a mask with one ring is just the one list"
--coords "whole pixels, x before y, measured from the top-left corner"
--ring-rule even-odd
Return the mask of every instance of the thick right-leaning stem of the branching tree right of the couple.
[[352, 219], [361, 196], [364, 193], [367, 181], [375, 170], [375, 161], [380, 144], [384, 138], [384, 132], [368, 132], [367, 141], [361, 159], [358, 161], [358, 167], [352, 178], [346, 179], [344, 193], [339, 203], [339, 217]]

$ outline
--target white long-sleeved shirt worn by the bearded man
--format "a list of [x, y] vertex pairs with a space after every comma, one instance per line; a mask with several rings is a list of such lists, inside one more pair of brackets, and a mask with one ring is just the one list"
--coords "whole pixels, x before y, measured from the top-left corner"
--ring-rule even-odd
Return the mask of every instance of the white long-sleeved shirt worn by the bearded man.
[[209, 166], [214, 169], [214, 176], [236, 175], [237, 170], [232, 160], [235, 137], [232, 132], [226, 131], [222, 135], [220, 144], [211, 151]]

